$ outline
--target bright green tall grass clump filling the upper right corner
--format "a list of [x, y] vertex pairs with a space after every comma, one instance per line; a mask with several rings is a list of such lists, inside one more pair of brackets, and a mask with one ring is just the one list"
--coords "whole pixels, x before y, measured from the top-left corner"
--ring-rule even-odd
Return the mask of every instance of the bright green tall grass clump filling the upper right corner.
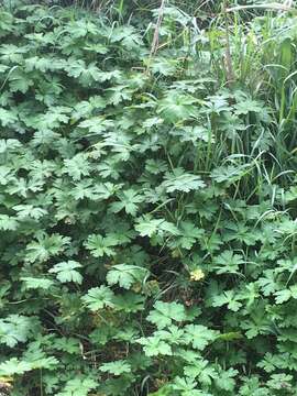
[[[297, 146], [296, 11], [280, 6], [261, 4], [263, 14], [250, 21], [242, 15], [245, 8], [235, 7], [227, 10], [227, 15], [218, 14], [209, 31], [218, 80], [228, 82], [230, 72], [226, 63], [231, 62], [233, 89], [248, 89], [252, 97], [262, 99], [271, 108], [270, 133], [274, 144], [266, 163], [274, 169], [272, 179], [275, 173], [282, 173], [285, 179], [290, 175], [287, 170], [296, 166]], [[228, 45], [230, 59], [228, 52], [222, 51]], [[246, 142], [240, 143], [241, 147], [235, 144], [238, 152], [246, 146]], [[253, 154], [253, 148], [245, 154]]]

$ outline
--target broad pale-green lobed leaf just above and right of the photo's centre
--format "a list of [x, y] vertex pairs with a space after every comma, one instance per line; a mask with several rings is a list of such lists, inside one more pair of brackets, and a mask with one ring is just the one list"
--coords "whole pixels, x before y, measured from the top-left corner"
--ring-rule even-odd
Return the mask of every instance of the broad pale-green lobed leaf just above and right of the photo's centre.
[[200, 176], [185, 172], [183, 168], [175, 168], [173, 173], [166, 173], [162, 186], [167, 193], [198, 190], [206, 187]]

